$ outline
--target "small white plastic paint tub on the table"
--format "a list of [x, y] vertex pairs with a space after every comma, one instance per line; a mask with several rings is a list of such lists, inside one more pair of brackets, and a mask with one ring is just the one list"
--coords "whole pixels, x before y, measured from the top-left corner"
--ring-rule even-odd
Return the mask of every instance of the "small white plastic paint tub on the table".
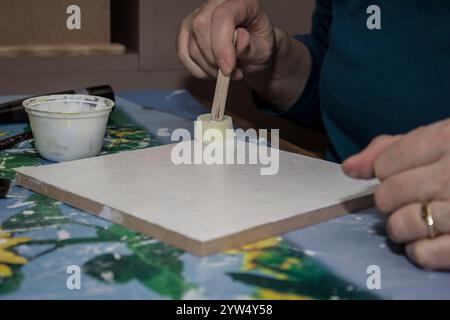
[[41, 157], [63, 162], [98, 155], [114, 102], [88, 95], [50, 95], [23, 102]]

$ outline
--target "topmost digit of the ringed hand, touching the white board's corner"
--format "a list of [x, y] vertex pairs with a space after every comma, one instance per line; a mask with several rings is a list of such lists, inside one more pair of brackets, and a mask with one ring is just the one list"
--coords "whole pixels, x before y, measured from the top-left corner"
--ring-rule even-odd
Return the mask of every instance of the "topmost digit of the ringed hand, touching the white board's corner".
[[363, 151], [344, 161], [342, 164], [344, 173], [352, 178], [373, 178], [375, 176], [375, 160], [400, 138], [401, 136], [379, 136], [375, 138]]

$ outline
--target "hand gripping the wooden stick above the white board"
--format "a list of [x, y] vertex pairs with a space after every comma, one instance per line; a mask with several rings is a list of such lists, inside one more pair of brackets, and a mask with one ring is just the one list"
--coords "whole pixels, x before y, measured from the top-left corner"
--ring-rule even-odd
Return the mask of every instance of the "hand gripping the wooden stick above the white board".
[[234, 70], [234, 80], [269, 69], [274, 47], [274, 27], [257, 0], [209, 0], [183, 20], [177, 39], [179, 60], [200, 79], [216, 78], [217, 67]]

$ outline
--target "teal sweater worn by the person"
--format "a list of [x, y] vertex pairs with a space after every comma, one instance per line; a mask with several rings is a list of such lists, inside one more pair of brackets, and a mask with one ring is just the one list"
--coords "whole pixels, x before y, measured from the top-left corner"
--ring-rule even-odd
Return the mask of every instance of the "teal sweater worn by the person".
[[283, 116], [323, 127], [329, 160], [345, 160], [377, 135], [450, 117], [449, 0], [316, 4], [311, 34], [296, 37], [309, 48], [313, 71]]

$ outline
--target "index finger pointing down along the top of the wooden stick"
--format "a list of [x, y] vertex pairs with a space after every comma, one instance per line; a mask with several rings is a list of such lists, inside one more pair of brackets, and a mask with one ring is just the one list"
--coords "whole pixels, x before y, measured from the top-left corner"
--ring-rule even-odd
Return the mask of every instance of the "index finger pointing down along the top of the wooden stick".
[[256, 19], [257, 1], [230, 0], [220, 4], [211, 16], [211, 47], [215, 61], [225, 75], [236, 66], [236, 48], [233, 44], [236, 27]]

